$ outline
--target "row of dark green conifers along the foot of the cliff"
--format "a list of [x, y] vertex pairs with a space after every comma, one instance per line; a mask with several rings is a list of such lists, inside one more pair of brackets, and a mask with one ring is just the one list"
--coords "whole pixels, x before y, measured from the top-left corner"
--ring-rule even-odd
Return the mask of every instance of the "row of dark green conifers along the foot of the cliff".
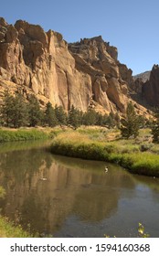
[[26, 101], [19, 91], [15, 96], [5, 91], [4, 102], [0, 106], [0, 124], [10, 128], [69, 125], [77, 129], [81, 124], [107, 125], [111, 128], [118, 122], [118, 114], [111, 112], [109, 115], [101, 115], [91, 108], [88, 112], [81, 112], [71, 106], [69, 112], [66, 113], [62, 106], [53, 107], [48, 102], [45, 109], [40, 109], [39, 102], [34, 95], [29, 95]]

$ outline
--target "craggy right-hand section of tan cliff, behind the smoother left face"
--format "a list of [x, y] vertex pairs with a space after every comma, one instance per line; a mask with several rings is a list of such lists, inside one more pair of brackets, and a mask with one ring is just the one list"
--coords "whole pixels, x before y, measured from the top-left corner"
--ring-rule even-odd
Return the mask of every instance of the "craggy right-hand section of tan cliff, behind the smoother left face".
[[93, 37], [69, 44], [69, 51], [76, 60], [76, 68], [90, 75], [92, 99], [108, 112], [124, 112], [128, 101], [128, 86], [122, 80], [117, 48], [111, 47], [101, 37]]

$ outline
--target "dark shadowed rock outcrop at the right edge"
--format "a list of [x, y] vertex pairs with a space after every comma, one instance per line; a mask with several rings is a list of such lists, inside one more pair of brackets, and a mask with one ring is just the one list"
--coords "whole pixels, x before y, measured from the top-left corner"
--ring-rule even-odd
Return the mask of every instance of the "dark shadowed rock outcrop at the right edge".
[[149, 80], [143, 83], [142, 94], [151, 106], [159, 106], [159, 65], [154, 65]]

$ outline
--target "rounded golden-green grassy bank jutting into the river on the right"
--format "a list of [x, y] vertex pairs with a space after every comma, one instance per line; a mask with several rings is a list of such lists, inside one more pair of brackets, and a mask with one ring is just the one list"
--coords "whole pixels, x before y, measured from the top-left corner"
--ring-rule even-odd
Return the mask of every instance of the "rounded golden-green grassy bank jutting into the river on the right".
[[119, 131], [78, 129], [54, 138], [50, 151], [90, 160], [122, 165], [131, 173], [159, 177], [159, 145], [152, 143], [149, 129], [140, 131], [136, 139], [123, 140]]

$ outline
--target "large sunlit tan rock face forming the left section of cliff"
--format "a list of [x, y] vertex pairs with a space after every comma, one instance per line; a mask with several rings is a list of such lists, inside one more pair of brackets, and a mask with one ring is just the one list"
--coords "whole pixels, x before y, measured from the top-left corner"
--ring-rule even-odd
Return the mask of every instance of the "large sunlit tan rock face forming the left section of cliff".
[[66, 110], [72, 104], [87, 110], [92, 95], [90, 76], [75, 69], [75, 60], [59, 33], [46, 33], [22, 20], [13, 27], [4, 19], [0, 33], [1, 79], [26, 86]]

